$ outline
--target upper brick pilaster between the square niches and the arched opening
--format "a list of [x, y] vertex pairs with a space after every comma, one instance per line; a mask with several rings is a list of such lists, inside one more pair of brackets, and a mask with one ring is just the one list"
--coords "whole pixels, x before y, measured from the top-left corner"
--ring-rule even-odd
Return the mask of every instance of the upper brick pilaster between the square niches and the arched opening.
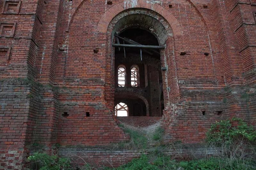
[[48, 1], [45, 5], [36, 59], [37, 78], [42, 82], [52, 82], [54, 79], [63, 1]]

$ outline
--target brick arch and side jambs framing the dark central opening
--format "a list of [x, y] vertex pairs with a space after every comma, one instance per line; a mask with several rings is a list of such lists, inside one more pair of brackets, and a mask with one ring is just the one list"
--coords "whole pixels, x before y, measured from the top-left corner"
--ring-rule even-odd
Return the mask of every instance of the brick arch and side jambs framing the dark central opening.
[[[122, 32], [125, 29], [131, 28], [131, 27], [141, 27], [141, 29], [147, 30], [149, 33], [152, 33], [156, 39], [159, 42], [159, 45], [161, 46], [166, 46], [165, 49], [161, 49], [160, 50], [160, 62], [162, 67], [168, 67], [167, 66], [167, 62], [168, 60], [170, 60], [170, 57], [168, 56], [172, 56], [173, 55], [173, 51], [174, 51], [174, 40], [173, 37], [174, 35], [176, 36], [180, 36], [182, 34], [182, 29], [178, 23], [178, 21], [176, 20], [176, 18], [174, 18], [174, 16], [172, 16], [172, 14], [169, 11], [167, 12], [167, 16], [169, 16], [169, 18], [167, 17], [164, 18], [162, 15], [160, 15], [158, 12], [156, 12], [159, 8], [163, 8], [160, 5], [156, 5], [156, 4], [152, 4], [153, 6], [156, 5], [158, 6], [158, 8], [155, 7], [147, 7], [147, 4], [145, 4], [145, 1], [138, 1], [140, 3], [138, 3], [137, 5], [134, 6], [130, 6], [129, 8], [127, 8], [126, 10], [124, 10], [124, 8], [121, 8], [120, 6], [117, 8], [120, 8], [119, 12], [118, 10], [114, 10], [116, 12], [116, 14], [113, 14], [113, 7], [110, 8], [108, 10], [109, 13], [112, 13], [111, 17], [110, 14], [105, 13], [99, 23], [98, 23], [98, 27], [99, 28], [97, 31], [100, 31], [100, 34], [107, 34], [107, 58], [106, 58], [106, 63], [107, 63], [107, 67], [106, 67], [106, 84], [105, 84], [105, 90], [106, 90], [106, 100], [108, 103], [108, 107], [110, 109], [114, 108], [114, 92], [115, 92], [115, 65], [114, 65], [114, 60], [115, 60], [115, 50], [114, 48], [112, 48], [112, 43], [115, 41], [114, 38], [114, 33], [116, 32]], [[143, 6], [144, 3], [144, 6]], [[117, 4], [118, 5], [118, 4]], [[121, 4], [119, 4], [121, 5]], [[116, 5], [115, 5], [116, 6]], [[122, 7], [122, 5], [121, 5]], [[143, 7], [143, 8], [142, 8]], [[155, 9], [156, 8], [156, 9]], [[112, 9], [112, 10], [111, 10]], [[154, 10], [151, 10], [154, 9]], [[164, 10], [164, 9], [163, 9]], [[112, 12], [111, 12], [112, 11]], [[129, 16], [144, 16], [140, 18], [136, 18], [138, 21], [136, 23], [132, 23], [132, 19], [129, 18]], [[108, 16], [108, 17], [107, 17]], [[114, 17], [114, 18], [112, 18]], [[129, 22], [127, 22], [128, 20]], [[145, 19], [146, 18], [146, 19]], [[170, 18], [173, 19], [173, 22], [170, 24]], [[105, 20], [105, 21], [103, 21]], [[145, 20], [151, 20], [153, 21], [151, 24], [151, 22], [147, 22]], [[140, 22], [141, 21], [141, 22]], [[105, 26], [104, 28], [102, 26], [100, 26], [100, 23], [104, 22]], [[176, 25], [174, 24], [176, 22]], [[174, 25], [173, 25], [174, 24]], [[172, 27], [175, 27], [175, 30], [172, 30]], [[179, 29], [177, 29], [177, 27], [179, 27]], [[167, 44], [167, 45], [166, 45]], [[168, 58], [167, 58], [168, 57]], [[171, 62], [170, 62], [171, 63]], [[176, 79], [174, 78], [174, 74], [172, 74], [173, 72], [175, 72], [175, 66], [173, 65], [173, 63], [171, 63], [169, 65], [169, 71], [171, 73], [171, 76], [169, 76], [169, 79], [167, 79], [167, 71], [164, 70], [162, 71], [162, 80], [163, 80], [163, 96], [164, 96], [164, 107], [167, 107], [170, 104], [170, 98], [169, 98], [169, 91], [167, 91], [168, 87], [168, 83], [175, 83]], [[169, 73], [169, 74], [170, 74]], [[172, 79], [172, 80], [171, 80]], [[177, 89], [176, 89], [177, 88]], [[177, 93], [175, 93], [175, 96], [172, 98], [175, 98], [176, 96], [178, 96], [178, 87], [174, 86], [173, 91], [176, 91]], [[161, 107], [160, 107], [161, 108]], [[147, 113], [147, 115], [149, 115], [149, 113]]]

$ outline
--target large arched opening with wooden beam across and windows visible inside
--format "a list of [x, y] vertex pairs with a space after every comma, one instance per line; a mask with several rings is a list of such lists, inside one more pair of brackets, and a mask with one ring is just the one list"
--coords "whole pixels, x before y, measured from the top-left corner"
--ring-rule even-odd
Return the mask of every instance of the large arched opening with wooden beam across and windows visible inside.
[[[155, 11], [131, 8], [112, 19], [108, 26], [108, 35], [108, 47], [111, 50], [110, 93], [114, 97], [114, 101], [110, 101], [113, 102], [112, 108], [123, 100], [134, 106], [136, 111], [130, 109], [131, 112], [141, 110], [141, 113], [135, 114], [136, 116], [145, 115], [144, 107], [147, 105], [146, 116], [161, 117], [164, 106], [169, 103], [169, 91], [164, 88], [168, 86], [166, 55], [172, 53], [173, 49], [170, 48], [173, 46], [168, 45], [166, 48], [112, 46], [127, 44], [160, 47], [165, 46], [166, 43], [173, 43], [173, 34], [168, 22]], [[118, 77], [122, 72], [119, 68], [125, 68], [125, 74], [124, 69], [122, 74], [125, 78]], [[118, 80], [124, 81], [124, 79], [125, 83], [119, 85], [121, 81], [119, 83]], [[127, 97], [129, 93], [139, 97], [130, 99]], [[145, 99], [147, 104], [139, 98]]]

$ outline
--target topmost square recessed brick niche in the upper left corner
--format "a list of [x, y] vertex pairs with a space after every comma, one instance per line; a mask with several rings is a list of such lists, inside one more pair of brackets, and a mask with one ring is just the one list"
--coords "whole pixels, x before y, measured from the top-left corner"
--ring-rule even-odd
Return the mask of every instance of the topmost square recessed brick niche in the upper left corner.
[[5, 0], [3, 5], [3, 14], [19, 14], [20, 12], [20, 0]]

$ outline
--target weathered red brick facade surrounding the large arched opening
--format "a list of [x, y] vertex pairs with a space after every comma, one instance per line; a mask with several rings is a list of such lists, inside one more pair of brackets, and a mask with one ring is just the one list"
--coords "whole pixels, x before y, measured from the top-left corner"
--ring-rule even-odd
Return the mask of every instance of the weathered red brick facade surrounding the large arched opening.
[[147, 67], [150, 88], [145, 80], [127, 90], [159, 115], [152, 95], [161, 86], [165, 142], [200, 143], [211, 123], [233, 116], [256, 125], [255, 0], [0, 0], [0, 8], [0, 169], [22, 169], [33, 143], [129, 140], [113, 115], [122, 63], [112, 44], [130, 27], [165, 46], [162, 82]]

